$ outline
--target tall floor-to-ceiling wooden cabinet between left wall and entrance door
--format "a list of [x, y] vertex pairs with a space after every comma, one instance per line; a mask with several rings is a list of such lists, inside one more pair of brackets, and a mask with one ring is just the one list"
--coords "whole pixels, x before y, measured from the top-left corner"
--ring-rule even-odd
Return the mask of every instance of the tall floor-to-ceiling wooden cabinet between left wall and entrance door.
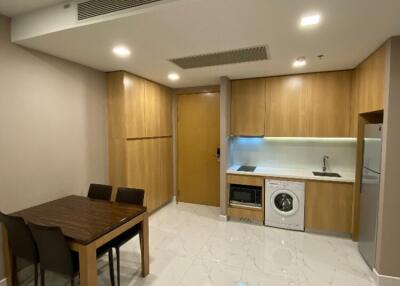
[[173, 197], [170, 89], [126, 72], [107, 81], [110, 183], [144, 189], [153, 211]]

